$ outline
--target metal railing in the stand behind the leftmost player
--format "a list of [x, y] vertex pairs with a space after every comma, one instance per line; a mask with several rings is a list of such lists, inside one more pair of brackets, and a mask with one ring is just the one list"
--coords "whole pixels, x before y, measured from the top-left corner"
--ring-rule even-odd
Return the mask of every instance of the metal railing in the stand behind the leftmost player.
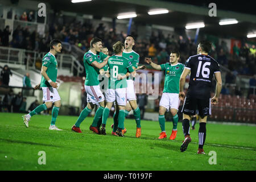
[[[0, 62], [15, 65], [25, 65], [26, 69], [38, 69], [36, 64], [42, 63], [42, 58], [47, 52], [28, 51], [10, 47], [0, 47]], [[59, 69], [68, 69], [70, 73], [76, 70], [76, 76], [84, 71], [84, 68], [70, 54], [57, 54], [56, 59]], [[40, 69], [40, 68], [39, 68]]]

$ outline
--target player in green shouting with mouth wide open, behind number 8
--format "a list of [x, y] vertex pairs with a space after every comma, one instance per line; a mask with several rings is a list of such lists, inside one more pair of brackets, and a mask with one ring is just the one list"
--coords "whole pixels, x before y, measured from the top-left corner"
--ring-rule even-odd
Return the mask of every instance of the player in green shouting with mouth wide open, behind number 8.
[[[139, 64], [139, 55], [135, 51], [133, 51], [133, 46], [135, 45], [135, 38], [133, 35], [127, 35], [125, 39], [125, 49], [123, 50], [123, 57], [129, 60], [131, 63], [134, 71], [138, 69], [144, 69], [144, 65], [138, 67]], [[135, 136], [137, 138], [141, 137], [141, 111], [137, 105], [137, 97], [134, 88], [134, 77], [129, 77], [129, 73], [126, 74], [127, 76], [127, 105], [125, 107], [125, 117], [129, 114], [131, 109], [133, 109], [134, 118], [137, 124], [137, 130]], [[117, 123], [118, 118], [118, 108], [114, 113], [114, 122]], [[114, 125], [113, 125], [114, 126]], [[115, 125], [116, 126], [116, 125]], [[113, 127], [113, 132], [117, 129]], [[126, 129], [123, 127], [123, 133], [126, 133]]]

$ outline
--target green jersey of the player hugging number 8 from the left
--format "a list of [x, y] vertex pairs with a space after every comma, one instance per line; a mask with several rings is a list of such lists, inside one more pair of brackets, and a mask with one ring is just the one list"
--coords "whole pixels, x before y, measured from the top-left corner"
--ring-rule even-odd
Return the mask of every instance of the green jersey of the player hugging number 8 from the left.
[[98, 81], [98, 74], [100, 73], [100, 69], [93, 67], [91, 64], [94, 61], [100, 63], [100, 61], [104, 60], [106, 57], [108, 56], [102, 52], [100, 52], [98, 55], [91, 51], [88, 51], [84, 54], [84, 68], [86, 72], [85, 85], [93, 86], [100, 84], [100, 81]]

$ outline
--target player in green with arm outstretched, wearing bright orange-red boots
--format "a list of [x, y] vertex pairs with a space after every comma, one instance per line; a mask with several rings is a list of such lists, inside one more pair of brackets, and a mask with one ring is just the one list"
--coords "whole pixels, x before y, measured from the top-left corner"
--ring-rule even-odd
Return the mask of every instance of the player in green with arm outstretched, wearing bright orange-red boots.
[[174, 51], [170, 54], [170, 63], [166, 64], [158, 65], [153, 63], [150, 58], [145, 58], [146, 63], [150, 64], [151, 67], [157, 70], [163, 70], [165, 71], [166, 74], [166, 77], [164, 79], [163, 95], [159, 104], [158, 120], [160, 128], [162, 130], [159, 139], [167, 137], [165, 129], [166, 119], [164, 118], [164, 113], [166, 113], [166, 110], [168, 111], [169, 109], [171, 111], [173, 119], [173, 127], [170, 139], [174, 140], [177, 135], [177, 122], [179, 121], [177, 111], [180, 105], [179, 81], [181, 73], [183, 72], [184, 69], [184, 65], [178, 62], [179, 59], [180, 53]]

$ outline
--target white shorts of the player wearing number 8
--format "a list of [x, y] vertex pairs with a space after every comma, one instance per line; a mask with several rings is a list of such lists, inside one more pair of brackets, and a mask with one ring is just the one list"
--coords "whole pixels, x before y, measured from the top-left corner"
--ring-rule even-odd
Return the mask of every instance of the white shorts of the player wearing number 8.
[[121, 89], [108, 89], [105, 92], [106, 101], [114, 102], [117, 101], [119, 106], [126, 106], [127, 94], [126, 88]]

